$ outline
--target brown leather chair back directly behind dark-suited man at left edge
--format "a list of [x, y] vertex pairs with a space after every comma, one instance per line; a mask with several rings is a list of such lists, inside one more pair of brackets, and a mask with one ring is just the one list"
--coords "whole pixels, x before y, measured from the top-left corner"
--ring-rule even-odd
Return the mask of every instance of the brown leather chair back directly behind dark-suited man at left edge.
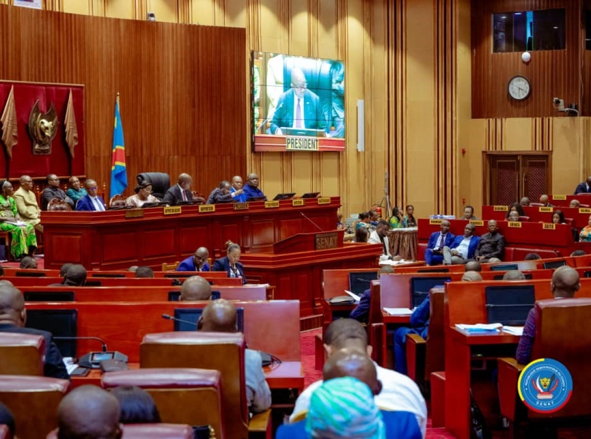
[[42, 376], [44, 355], [43, 336], [0, 332], [0, 375]]

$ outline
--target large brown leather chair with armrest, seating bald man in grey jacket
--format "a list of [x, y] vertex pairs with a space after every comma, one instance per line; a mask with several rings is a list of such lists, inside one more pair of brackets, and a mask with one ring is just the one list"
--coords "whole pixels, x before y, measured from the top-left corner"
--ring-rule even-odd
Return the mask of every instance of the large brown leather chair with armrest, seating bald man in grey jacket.
[[219, 370], [222, 376], [222, 408], [226, 419], [226, 437], [246, 439], [249, 437], [249, 424], [252, 433], [271, 437], [269, 410], [255, 415], [249, 423], [244, 349], [244, 336], [241, 333], [146, 334], [139, 348], [139, 366]]

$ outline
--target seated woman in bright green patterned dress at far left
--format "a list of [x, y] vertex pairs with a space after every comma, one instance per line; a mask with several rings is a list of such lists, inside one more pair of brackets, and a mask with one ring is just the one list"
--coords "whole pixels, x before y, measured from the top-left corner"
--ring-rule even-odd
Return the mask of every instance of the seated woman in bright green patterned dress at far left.
[[4, 180], [0, 195], [0, 230], [10, 232], [10, 254], [18, 260], [23, 256], [33, 256], [37, 250], [37, 237], [33, 225], [21, 221], [12, 193], [12, 184]]

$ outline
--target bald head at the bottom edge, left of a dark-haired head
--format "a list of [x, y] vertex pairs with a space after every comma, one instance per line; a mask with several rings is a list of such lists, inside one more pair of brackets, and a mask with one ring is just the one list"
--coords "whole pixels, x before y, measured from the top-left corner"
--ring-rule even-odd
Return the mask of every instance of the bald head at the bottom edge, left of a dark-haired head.
[[64, 396], [57, 407], [58, 439], [119, 439], [119, 401], [100, 387], [85, 385]]

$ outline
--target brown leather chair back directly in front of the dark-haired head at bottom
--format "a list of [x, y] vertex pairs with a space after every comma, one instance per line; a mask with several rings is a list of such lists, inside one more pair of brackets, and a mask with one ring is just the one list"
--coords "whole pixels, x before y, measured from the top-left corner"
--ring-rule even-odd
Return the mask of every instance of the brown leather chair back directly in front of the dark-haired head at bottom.
[[152, 395], [163, 422], [211, 425], [224, 437], [220, 382], [218, 370], [147, 368], [105, 373], [101, 385], [138, 386]]

